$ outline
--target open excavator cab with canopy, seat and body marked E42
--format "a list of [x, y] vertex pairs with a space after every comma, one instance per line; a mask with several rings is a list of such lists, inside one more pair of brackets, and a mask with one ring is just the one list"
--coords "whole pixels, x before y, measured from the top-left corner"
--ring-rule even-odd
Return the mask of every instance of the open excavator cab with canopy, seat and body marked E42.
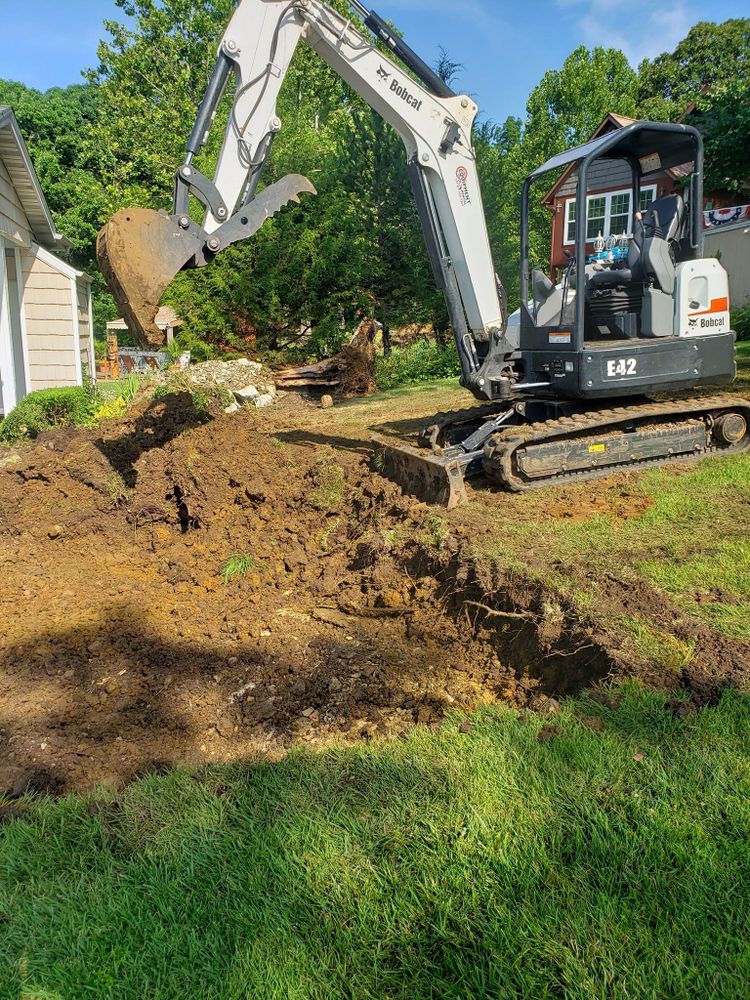
[[[584, 221], [555, 283], [529, 264], [529, 200], [534, 182], [560, 168], [575, 181], [573, 218]], [[641, 191], [669, 169], [683, 189], [646, 204]], [[727, 275], [702, 259], [702, 172], [694, 128], [635, 122], [552, 157], [526, 180], [519, 350], [536, 394], [601, 399], [734, 380]], [[623, 188], [630, 181], [623, 205], [641, 211], [627, 210], [625, 231], [602, 234], [587, 204], [613, 173]]]

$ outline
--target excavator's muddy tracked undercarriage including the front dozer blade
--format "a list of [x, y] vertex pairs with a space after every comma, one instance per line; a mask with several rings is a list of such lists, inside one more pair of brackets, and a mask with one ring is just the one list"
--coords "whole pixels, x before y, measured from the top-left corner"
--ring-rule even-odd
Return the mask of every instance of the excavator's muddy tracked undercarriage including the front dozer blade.
[[474, 476], [520, 493], [749, 450], [750, 400], [511, 400], [443, 415], [419, 447], [376, 444], [381, 468], [406, 492], [453, 508]]

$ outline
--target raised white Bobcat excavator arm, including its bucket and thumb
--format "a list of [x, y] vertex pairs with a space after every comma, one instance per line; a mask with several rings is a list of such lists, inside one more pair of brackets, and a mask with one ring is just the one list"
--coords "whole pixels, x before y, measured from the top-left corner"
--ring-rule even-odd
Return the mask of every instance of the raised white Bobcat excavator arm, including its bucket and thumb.
[[[513, 345], [504, 335], [502, 290], [472, 146], [477, 106], [470, 97], [454, 94], [377, 14], [358, 0], [350, 6], [394, 58], [364, 36], [359, 19], [343, 16], [322, 0], [240, 0], [176, 173], [172, 213], [126, 209], [114, 216], [99, 236], [102, 271], [130, 329], [141, 341], [158, 344], [163, 337], [154, 318], [179, 270], [205, 266], [284, 205], [315, 193], [299, 175], [257, 193], [282, 127], [276, 111], [279, 90], [304, 41], [401, 136], [430, 261], [445, 293], [463, 383], [489, 398], [483, 370], [498, 355], [510, 355]], [[230, 78], [235, 96], [210, 179], [195, 168], [194, 158], [207, 141]], [[191, 197], [205, 206], [202, 226], [190, 217]]]

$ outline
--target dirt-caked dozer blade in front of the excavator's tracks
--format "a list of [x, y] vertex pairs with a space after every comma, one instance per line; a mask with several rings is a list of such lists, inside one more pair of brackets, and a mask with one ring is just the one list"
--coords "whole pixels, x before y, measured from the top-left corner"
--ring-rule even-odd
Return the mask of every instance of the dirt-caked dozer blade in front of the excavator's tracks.
[[398, 483], [404, 493], [448, 510], [466, 503], [466, 463], [461, 459], [434, 455], [409, 445], [388, 444], [379, 438], [373, 444], [376, 468]]

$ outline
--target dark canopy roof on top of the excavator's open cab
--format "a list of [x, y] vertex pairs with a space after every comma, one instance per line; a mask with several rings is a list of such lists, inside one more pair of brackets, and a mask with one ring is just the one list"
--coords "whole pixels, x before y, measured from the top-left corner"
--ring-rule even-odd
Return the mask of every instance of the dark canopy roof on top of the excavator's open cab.
[[[647, 175], [694, 160], [700, 143], [700, 132], [691, 125], [634, 122], [592, 139], [583, 146], [558, 153], [538, 167], [529, 179], [585, 159], [641, 160], [641, 172]], [[655, 154], [658, 154], [658, 160]]]

